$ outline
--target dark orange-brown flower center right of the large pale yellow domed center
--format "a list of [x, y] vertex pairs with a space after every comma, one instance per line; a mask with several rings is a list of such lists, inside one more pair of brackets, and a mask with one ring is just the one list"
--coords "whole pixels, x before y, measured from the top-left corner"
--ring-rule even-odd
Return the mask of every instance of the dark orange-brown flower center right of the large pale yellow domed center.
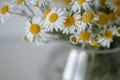
[[99, 13], [98, 14], [99, 20], [97, 21], [97, 24], [99, 25], [105, 25], [108, 22], [108, 17], [105, 13]]

